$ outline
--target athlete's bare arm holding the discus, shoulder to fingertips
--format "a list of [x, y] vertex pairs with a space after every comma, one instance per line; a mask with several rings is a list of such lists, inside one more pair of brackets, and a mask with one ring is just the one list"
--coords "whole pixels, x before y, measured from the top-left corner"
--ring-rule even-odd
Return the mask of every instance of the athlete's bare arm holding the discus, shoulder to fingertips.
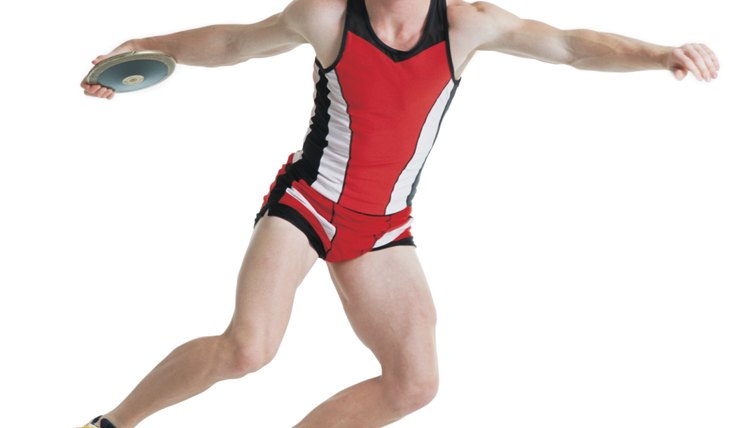
[[[178, 33], [129, 40], [112, 52], [94, 59], [94, 64], [124, 52], [156, 50], [172, 56], [178, 64], [218, 67], [252, 58], [277, 55], [303, 43], [316, 44], [309, 28], [319, 2], [295, 0], [284, 11], [247, 25], [212, 25]], [[319, 13], [318, 13], [319, 14]], [[100, 85], [81, 82], [86, 95], [112, 98], [114, 92]]]

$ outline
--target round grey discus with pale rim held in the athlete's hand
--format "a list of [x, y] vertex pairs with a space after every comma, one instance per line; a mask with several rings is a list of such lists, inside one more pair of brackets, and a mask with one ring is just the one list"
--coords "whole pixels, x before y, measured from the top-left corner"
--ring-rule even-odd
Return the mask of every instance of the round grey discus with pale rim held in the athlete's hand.
[[86, 83], [115, 92], [138, 91], [164, 81], [176, 64], [174, 58], [162, 52], [125, 52], [96, 64], [86, 76]]

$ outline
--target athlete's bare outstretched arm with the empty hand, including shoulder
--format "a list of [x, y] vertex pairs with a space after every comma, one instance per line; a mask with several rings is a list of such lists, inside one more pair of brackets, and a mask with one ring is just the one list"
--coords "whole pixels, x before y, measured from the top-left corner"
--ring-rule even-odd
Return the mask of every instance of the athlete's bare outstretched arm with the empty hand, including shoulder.
[[[486, 2], [470, 5], [462, 15], [473, 23], [476, 50], [490, 50], [598, 71], [667, 69], [682, 80], [718, 77], [719, 61], [703, 44], [660, 46], [592, 30], [560, 30], [517, 16]], [[472, 31], [472, 30], [470, 30]], [[479, 35], [481, 34], [481, 35]]]

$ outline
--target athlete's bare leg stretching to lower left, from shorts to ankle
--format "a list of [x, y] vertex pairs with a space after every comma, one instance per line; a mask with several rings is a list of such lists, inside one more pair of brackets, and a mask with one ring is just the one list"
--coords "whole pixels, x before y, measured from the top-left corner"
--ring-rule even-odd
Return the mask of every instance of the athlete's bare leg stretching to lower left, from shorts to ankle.
[[267, 364], [284, 335], [297, 286], [317, 258], [297, 228], [276, 217], [261, 219], [237, 282], [234, 316], [219, 336], [185, 343], [169, 354], [106, 417], [130, 428], [214, 383]]

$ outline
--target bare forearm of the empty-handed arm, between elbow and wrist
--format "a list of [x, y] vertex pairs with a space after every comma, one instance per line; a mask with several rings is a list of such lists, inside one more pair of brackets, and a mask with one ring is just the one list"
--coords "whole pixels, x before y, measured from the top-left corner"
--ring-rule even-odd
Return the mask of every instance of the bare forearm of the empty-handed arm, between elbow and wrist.
[[669, 68], [674, 48], [591, 30], [563, 32], [569, 64], [585, 70], [638, 71]]

